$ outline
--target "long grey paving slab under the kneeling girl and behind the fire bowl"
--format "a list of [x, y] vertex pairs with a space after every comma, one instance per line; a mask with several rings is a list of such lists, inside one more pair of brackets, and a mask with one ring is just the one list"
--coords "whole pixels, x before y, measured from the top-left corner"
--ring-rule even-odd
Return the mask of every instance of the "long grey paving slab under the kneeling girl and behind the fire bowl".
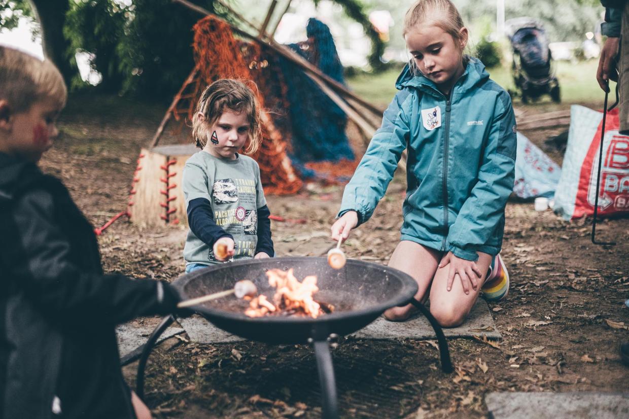
[[[181, 319], [182, 325], [192, 342], [199, 344], [221, 344], [238, 342], [243, 338], [224, 332], [212, 325], [201, 316]], [[472, 337], [485, 334], [490, 339], [501, 339], [502, 335], [496, 329], [494, 320], [489, 312], [489, 307], [483, 299], [479, 299], [469, 318], [461, 327], [443, 329], [447, 337]], [[408, 321], [387, 321], [379, 317], [367, 327], [352, 335], [361, 339], [404, 339], [429, 340], [435, 338], [435, 331], [421, 315], [416, 315]]]

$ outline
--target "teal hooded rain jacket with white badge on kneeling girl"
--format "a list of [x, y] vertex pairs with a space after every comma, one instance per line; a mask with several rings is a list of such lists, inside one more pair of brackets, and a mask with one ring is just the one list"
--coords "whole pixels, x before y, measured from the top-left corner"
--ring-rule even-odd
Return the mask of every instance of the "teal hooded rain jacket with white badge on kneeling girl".
[[467, 260], [477, 260], [476, 252], [498, 254], [515, 177], [515, 115], [479, 60], [465, 67], [450, 98], [404, 68], [399, 92], [345, 187], [339, 216], [354, 210], [359, 224], [369, 220], [406, 148], [401, 240]]

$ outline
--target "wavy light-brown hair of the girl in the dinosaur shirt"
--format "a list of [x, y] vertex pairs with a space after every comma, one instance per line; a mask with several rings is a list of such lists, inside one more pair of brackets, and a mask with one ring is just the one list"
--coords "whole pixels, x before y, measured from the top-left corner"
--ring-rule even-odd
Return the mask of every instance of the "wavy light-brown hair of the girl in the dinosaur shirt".
[[[247, 82], [252, 83], [253, 82]], [[255, 84], [253, 84], [255, 86]], [[201, 94], [192, 117], [192, 137], [197, 147], [203, 148], [208, 143], [209, 130], [223, 112], [245, 112], [249, 121], [249, 138], [243, 152], [254, 153], [262, 141], [260, 126], [260, 104], [255, 93], [245, 82], [233, 79], [221, 79], [210, 84]], [[203, 118], [201, 118], [201, 115]]]

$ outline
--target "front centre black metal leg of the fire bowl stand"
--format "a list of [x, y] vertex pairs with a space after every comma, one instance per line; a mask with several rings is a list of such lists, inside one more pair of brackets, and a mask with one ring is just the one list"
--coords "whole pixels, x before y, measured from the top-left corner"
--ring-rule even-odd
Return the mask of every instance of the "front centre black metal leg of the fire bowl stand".
[[323, 419], [338, 419], [337, 382], [334, 377], [330, 340], [333, 335], [323, 331], [316, 331], [315, 338], [309, 342], [315, 347], [316, 366], [321, 383], [321, 398], [323, 403]]

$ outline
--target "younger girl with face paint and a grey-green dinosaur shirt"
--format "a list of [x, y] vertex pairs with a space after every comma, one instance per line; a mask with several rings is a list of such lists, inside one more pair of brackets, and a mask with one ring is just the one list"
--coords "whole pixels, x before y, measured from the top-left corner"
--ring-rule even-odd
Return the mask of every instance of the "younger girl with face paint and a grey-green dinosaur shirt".
[[190, 230], [186, 272], [233, 259], [274, 255], [260, 168], [241, 152], [258, 148], [259, 104], [240, 81], [208, 86], [192, 118], [201, 151], [187, 160], [183, 189]]

